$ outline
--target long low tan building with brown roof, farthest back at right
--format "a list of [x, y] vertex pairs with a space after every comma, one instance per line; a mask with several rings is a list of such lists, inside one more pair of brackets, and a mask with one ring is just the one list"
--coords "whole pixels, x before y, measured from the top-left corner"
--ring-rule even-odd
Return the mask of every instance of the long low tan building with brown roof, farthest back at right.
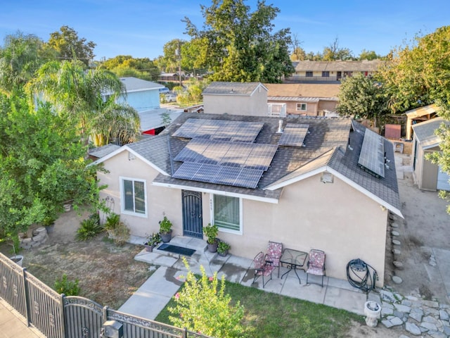
[[366, 76], [377, 72], [385, 61], [299, 61], [295, 66], [295, 75], [288, 81], [340, 81], [342, 77], [362, 73]]

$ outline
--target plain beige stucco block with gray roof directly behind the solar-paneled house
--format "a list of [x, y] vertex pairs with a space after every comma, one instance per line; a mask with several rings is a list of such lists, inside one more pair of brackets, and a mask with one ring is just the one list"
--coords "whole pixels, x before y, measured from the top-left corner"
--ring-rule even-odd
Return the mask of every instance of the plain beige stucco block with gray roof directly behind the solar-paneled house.
[[267, 116], [267, 88], [260, 82], [211, 82], [203, 90], [205, 113]]

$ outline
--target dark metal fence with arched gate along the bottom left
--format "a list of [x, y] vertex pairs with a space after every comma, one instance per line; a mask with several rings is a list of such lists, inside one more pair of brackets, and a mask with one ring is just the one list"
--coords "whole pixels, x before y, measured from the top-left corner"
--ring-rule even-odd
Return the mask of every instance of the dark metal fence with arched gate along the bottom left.
[[[203, 334], [102, 307], [95, 301], [58, 294], [25, 268], [0, 253], [0, 298], [27, 326], [49, 338], [98, 338], [108, 335], [108, 323], [123, 338], [208, 338]], [[105, 325], [106, 323], [106, 325]]]

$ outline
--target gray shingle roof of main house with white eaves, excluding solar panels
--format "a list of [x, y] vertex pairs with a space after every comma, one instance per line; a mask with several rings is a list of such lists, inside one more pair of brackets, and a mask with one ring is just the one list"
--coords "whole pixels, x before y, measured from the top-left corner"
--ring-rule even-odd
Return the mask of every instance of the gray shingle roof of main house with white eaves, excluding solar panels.
[[[269, 168], [264, 172], [255, 189], [172, 177], [183, 164], [174, 161], [174, 158], [191, 141], [191, 139], [173, 137], [172, 134], [188, 119], [264, 123], [255, 139], [256, 144], [278, 144], [281, 137], [281, 134], [277, 133], [279, 118], [183, 113], [161, 134], [136, 144], [128, 144], [117, 152], [127, 149], [156, 168], [160, 174], [155, 177], [153, 184], [158, 186], [227, 194], [272, 203], [278, 202], [283, 187], [312, 175], [328, 172], [377, 201], [381, 206], [401, 215], [392, 144], [383, 138], [386, 158], [392, 165], [385, 169], [385, 177], [378, 178], [371, 175], [358, 165], [366, 128], [353, 123], [348, 118], [292, 116], [283, 119], [283, 126], [286, 123], [309, 125], [309, 134], [304, 139], [304, 146], [278, 146]], [[347, 146], [348, 144], [350, 146]], [[110, 154], [99, 161], [105, 161], [114, 155]]]

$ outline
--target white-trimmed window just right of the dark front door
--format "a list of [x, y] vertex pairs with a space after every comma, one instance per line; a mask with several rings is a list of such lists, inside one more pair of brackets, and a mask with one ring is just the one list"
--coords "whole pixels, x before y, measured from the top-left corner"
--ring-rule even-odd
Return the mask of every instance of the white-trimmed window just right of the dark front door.
[[211, 214], [219, 231], [242, 234], [242, 199], [213, 194]]

